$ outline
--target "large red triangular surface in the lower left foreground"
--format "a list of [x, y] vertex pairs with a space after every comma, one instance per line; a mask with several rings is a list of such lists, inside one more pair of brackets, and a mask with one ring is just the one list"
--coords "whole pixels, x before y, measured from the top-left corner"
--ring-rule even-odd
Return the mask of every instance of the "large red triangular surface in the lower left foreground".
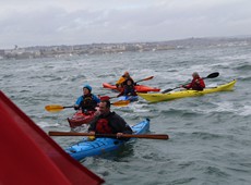
[[104, 183], [104, 180], [65, 153], [2, 91], [0, 131], [0, 184]]

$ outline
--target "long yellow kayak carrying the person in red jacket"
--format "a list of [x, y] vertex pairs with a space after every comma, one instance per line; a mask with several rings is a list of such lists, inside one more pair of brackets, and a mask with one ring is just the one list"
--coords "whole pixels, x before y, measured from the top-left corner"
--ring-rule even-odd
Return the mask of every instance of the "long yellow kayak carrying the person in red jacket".
[[195, 96], [201, 96], [204, 94], [232, 90], [236, 82], [237, 81], [234, 79], [227, 84], [223, 84], [217, 87], [204, 88], [204, 90], [201, 90], [201, 91], [199, 90], [179, 90], [179, 91], [171, 91], [168, 94], [139, 94], [138, 92], [138, 95], [150, 102], [168, 101], [168, 100], [178, 99], [178, 98], [195, 97]]

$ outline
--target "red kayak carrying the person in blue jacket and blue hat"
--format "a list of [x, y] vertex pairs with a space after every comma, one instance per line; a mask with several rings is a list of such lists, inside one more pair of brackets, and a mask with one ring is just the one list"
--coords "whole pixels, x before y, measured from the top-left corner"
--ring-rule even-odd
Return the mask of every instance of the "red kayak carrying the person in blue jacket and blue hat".
[[73, 128], [83, 124], [88, 124], [94, 119], [95, 112], [96, 111], [87, 111], [86, 113], [83, 113], [82, 110], [79, 110], [72, 115], [72, 118], [68, 118], [70, 127]]

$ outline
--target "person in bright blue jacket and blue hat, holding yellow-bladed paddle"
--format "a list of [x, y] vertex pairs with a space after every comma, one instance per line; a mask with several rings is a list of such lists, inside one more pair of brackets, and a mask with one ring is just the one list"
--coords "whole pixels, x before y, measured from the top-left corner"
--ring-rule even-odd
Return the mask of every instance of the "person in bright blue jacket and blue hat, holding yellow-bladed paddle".
[[88, 111], [96, 111], [97, 104], [100, 102], [100, 99], [92, 94], [92, 87], [89, 85], [83, 86], [83, 95], [76, 99], [74, 109], [82, 109], [83, 113]]

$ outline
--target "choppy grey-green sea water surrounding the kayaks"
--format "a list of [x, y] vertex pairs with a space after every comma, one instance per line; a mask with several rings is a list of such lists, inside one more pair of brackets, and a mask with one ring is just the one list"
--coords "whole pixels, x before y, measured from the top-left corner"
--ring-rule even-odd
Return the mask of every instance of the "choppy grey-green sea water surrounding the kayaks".
[[[133, 125], [151, 119], [152, 134], [168, 134], [169, 140], [138, 139], [112, 158], [88, 158], [82, 163], [106, 184], [250, 184], [251, 163], [251, 54], [248, 47], [183, 49], [82, 55], [68, 59], [0, 60], [0, 87], [43, 130], [70, 131], [65, 109], [45, 111], [47, 104], [71, 106], [82, 95], [82, 85], [96, 95], [115, 96], [103, 83], [115, 83], [130, 71], [135, 81], [162, 90], [201, 76], [216, 86], [237, 78], [232, 91], [183, 98], [159, 103], [140, 99], [112, 111]], [[14, 67], [13, 67], [14, 66]], [[53, 138], [67, 147], [79, 138]], [[130, 177], [129, 177], [130, 176]]]

